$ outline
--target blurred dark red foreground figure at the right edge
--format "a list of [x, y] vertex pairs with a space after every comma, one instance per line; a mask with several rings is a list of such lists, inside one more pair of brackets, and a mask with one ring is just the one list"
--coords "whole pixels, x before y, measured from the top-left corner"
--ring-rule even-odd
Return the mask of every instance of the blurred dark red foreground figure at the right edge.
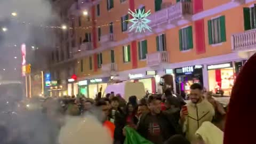
[[255, 138], [256, 55], [244, 65], [234, 84], [228, 106], [224, 144], [251, 144]]

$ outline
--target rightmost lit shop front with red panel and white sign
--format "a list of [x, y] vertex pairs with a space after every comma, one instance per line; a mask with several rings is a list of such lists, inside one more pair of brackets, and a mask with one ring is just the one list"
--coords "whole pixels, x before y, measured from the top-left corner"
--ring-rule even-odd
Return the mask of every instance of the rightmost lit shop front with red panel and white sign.
[[234, 81], [246, 61], [233, 61], [208, 65], [209, 90], [223, 95], [230, 95]]

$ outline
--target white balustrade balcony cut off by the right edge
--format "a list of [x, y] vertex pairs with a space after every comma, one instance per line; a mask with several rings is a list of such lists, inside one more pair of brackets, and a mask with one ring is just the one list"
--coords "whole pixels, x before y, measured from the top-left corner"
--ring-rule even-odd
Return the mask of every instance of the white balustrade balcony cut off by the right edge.
[[256, 50], [256, 29], [232, 35], [233, 51]]

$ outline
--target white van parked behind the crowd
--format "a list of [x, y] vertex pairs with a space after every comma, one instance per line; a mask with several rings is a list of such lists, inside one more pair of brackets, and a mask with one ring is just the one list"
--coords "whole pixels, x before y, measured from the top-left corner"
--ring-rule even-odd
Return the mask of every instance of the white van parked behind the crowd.
[[104, 94], [115, 92], [115, 94], [121, 94], [121, 96], [128, 100], [130, 96], [135, 95], [137, 99], [145, 97], [145, 86], [142, 82], [122, 82], [117, 84], [108, 85]]

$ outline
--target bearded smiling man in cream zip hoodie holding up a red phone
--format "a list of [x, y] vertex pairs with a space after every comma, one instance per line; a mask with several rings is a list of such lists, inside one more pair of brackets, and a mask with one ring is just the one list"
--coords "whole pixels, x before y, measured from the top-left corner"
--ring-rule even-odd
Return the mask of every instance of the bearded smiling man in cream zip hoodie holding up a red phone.
[[183, 132], [189, 141], [193, 140], [197, 129], [205, 121], [212, 121], [214, 108], [210, 102], [203, 99], [203, 87], [200, 84], [190, 86], [190, 102], [181, 109]]

